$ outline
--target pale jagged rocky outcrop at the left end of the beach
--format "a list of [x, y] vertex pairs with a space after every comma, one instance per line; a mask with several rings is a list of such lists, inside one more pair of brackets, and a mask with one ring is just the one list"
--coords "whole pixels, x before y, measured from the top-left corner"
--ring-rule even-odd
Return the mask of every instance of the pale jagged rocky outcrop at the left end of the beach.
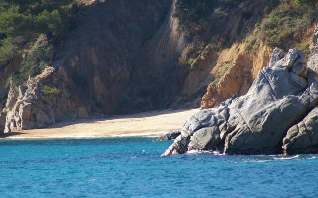
[[53, 67], [47, 67], [26, 85], [11, 86], [6, 107], [0, 113], [4, 133], [90, 118], [89, 105], [81, 103], [68, 91], [63, 83], [65, 77], [63, 69], [55, 72]]

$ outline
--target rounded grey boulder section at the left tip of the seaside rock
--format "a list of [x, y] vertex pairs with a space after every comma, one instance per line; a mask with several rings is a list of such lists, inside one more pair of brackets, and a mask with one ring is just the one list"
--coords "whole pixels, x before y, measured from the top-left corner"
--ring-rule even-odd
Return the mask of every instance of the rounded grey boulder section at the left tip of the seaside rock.
[[221, 104], [217, 108], [199, 110], [191, 115], [184, 123], [181, 135], [162, 156], [185, 153], [192, 149], [217, 149], [225, 140], [229, 117], [227, 105], [231, 104], [232, 100], [223, 103], [226, 105]]

